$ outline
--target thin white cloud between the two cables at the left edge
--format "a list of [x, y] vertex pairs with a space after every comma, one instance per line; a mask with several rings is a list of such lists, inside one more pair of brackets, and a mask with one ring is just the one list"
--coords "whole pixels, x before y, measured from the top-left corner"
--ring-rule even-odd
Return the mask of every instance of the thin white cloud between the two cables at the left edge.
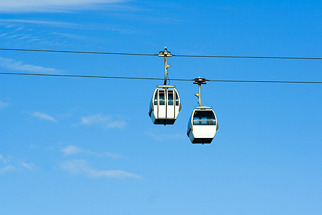
[[9, 58], [3, 58], [3, 57], [0, 57], [0, 67], [10, 69], [10, 70], [29, 71], [29, 72], [35, 72], [35, 73], [44, 73], [44, 72], [57, 73], [57, 72], [59, 72], [58, 69], [39, 67], [39, 66], [31, 65], [31, 64], [24, 64], [21, 61], [9, 59]]

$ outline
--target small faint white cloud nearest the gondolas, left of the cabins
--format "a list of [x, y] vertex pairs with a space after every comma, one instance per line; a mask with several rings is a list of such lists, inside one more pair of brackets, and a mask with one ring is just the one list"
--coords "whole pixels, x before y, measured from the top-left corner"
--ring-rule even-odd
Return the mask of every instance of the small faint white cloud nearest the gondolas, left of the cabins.
[[127, 123], [123, 119], [114, 119], [111, 116], [97, 113], [80, 118], [80, 125], [102, 125], [105, 128], [123, 128]]

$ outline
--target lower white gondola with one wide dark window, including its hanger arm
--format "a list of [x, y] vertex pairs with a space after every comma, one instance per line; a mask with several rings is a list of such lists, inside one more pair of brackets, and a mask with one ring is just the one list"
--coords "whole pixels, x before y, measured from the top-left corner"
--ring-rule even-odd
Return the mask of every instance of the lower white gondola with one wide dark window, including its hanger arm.
[[216, 113], [211, 106], [202, 106], [200, 86], [206, 84], [204, 78], [195, 78], [195, 84], [199, 85], [198, 103], [188, 120], [187, 136], [193, 144], [210, 144], [218, 130]]

